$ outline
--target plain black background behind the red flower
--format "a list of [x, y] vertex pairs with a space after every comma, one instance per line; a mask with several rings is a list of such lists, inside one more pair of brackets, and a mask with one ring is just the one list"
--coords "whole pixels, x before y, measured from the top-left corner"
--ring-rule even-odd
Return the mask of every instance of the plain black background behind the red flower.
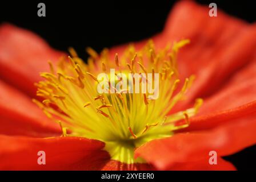
[[[46, 5], [46, 17], [37, 16], [37, 5]], [[256, 22], [254, 1], [197, 1], [247, 22]], [[74, 47], [86, 59], [85, 47], [133, 42], [160, 32], [175, 1], [1, 1], [0, 23], [9, 22], [36, 32], [54, 48]], [[256, 169], [256, 146], [225, 157], [238, 169]]]

